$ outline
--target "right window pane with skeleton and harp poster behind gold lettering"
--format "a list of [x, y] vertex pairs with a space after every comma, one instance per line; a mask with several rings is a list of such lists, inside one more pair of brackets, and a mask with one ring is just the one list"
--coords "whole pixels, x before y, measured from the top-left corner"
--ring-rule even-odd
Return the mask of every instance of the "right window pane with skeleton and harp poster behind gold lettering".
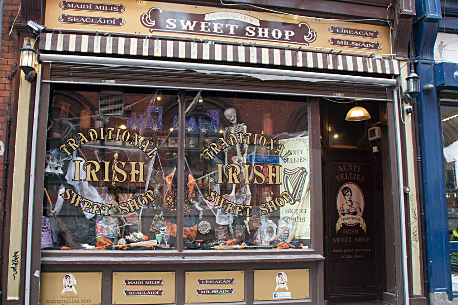
[[310, 246], [306, 112], [292, 119], [306, 106], [240, 93], [189, 97], [185, 172], [203, 210], [184, 216], [185, 227], [198, 226], [186, 249]]

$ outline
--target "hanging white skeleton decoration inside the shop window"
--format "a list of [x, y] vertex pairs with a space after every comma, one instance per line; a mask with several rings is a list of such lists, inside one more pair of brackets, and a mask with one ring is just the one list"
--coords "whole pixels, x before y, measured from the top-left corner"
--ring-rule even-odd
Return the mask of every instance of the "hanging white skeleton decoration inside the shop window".
[[[223, 132], [223, 137], [224, 139], [227, 139], [228, 134], [238, 134], [239, 132], [245, 134], [246, 133], [246, 125], [244, 123], [237, 124], [237, 113], [234, 108], [227, 108], [224, 110], [224, 116], [232, 123], [232, 126], [224, 128]], [[248, 150], [248, 145], [243, 144], [243, 153], [242, 153], [242, 147], [240, 144], [235, 145], [237, 155], [233, 156], [231, 158], [232, 163], [237, 164], [239, 166], [243, 166], [246, 164], [246, 156], [247, 156], [247, 150]], [[224, 166], [228, 165], [227, 161], [227, 148], [224, 149]], [[244, 171], [241, 171], [240, 173], [240, 181], [244, 180]], [[241, 188], [246, 188], [246, 201], [244, 204], [250, 204], [251, 203], [251, 191], [249, 185], [242, 185]], [[232, 192], [229, 195], [229, 199], [232, 202], [235, 202], [236, 200], [236, 185], [232, 185]]]

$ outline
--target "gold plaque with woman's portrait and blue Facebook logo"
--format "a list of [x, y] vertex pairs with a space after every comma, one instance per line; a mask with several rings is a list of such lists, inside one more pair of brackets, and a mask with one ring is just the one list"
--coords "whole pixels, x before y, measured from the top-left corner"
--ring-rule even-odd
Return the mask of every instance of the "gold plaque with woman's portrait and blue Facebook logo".
[[308, 298], [308, 269], [254, 270], [255, 301]]

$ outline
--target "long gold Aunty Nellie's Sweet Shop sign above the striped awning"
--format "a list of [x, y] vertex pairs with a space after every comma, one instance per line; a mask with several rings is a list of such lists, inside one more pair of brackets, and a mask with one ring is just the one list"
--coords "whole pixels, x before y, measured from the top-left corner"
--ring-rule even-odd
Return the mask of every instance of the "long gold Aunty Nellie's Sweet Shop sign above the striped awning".
[[[388, 26], [125, 0], [46, 3], [46, 27], [390, 54]], [[264, 55], [263, 55], [264, 56]]]

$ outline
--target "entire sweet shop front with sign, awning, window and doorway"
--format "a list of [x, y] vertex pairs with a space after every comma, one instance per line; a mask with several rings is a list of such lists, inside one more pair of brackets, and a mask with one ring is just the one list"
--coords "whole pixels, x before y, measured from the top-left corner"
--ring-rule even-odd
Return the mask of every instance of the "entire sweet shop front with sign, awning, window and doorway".
[[45, 15], [7, 300], [414, 296], [389, 27], [159, 2]]

